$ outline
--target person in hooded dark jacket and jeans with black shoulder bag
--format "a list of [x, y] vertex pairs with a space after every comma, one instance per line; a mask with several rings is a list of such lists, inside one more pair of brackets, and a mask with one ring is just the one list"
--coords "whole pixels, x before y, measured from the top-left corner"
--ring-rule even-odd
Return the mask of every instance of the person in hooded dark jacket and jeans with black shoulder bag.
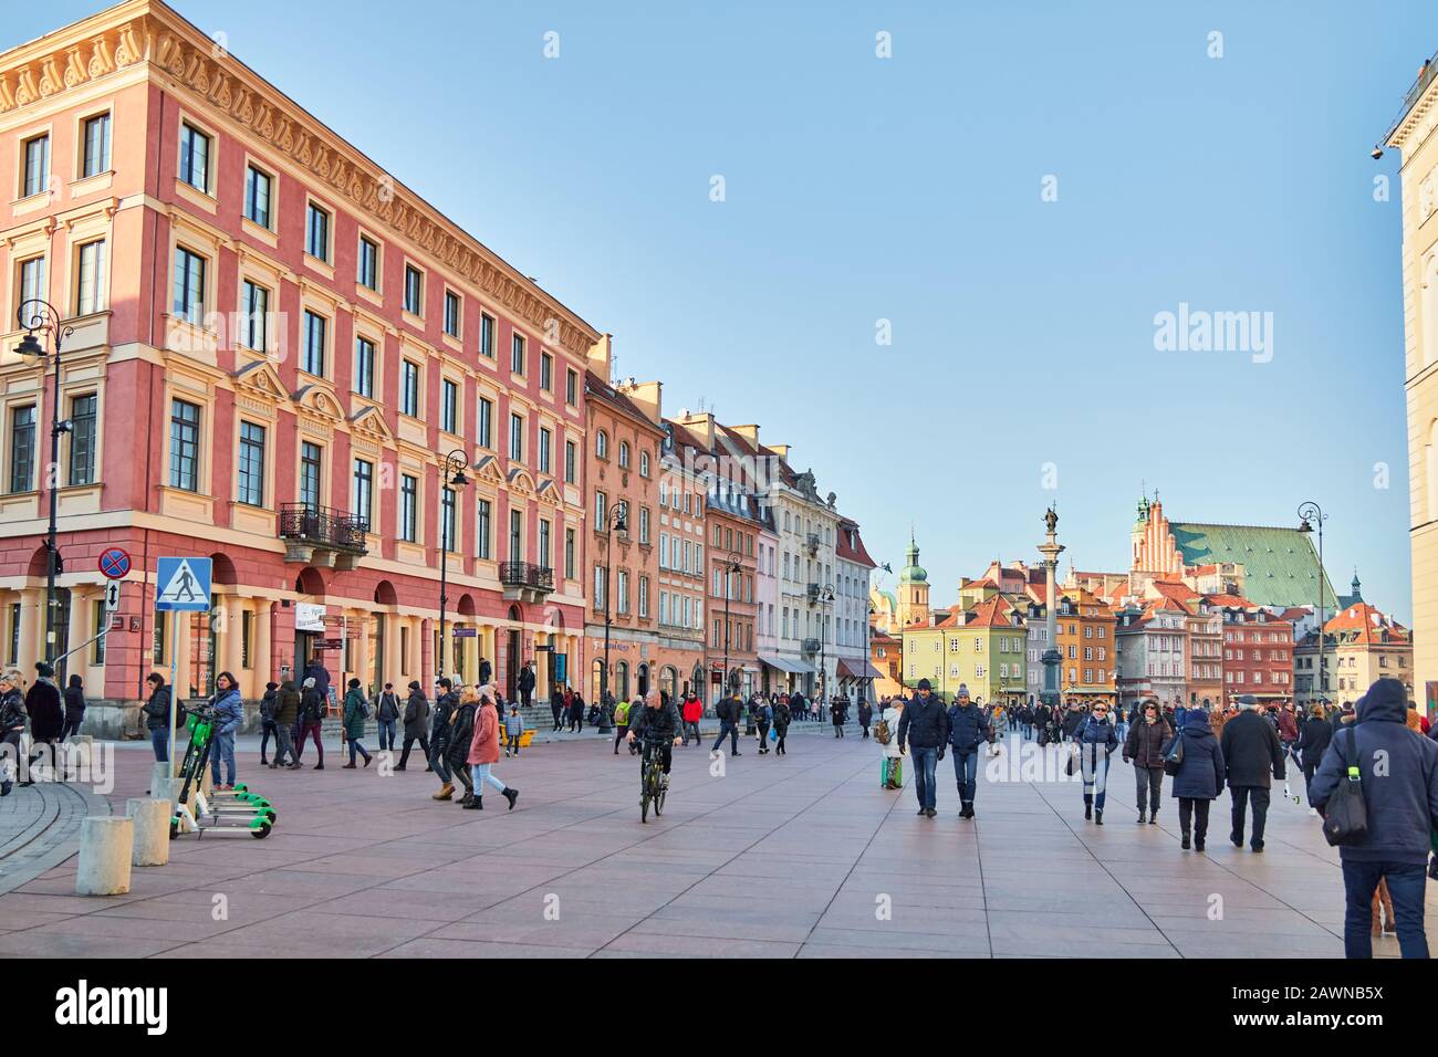
[[[1375, 772], [1378, 767], [1380, 772]], [[1426, 958], [1424, 894], [1428, 850], [1438, 827], [1438, 743], [1408, 729], [1408, 695], [1396, 679], [1375, 682], [1357, 722], [1333, 738], [1309, 798], [1324, 814], [1329, 798], [1356, 767], [1368, 805], [1368, 833], [1339, 846], [1347, 909], [1343, 952], [1372, 958], [1372, 899], [1388, 882], [1403, 958]]]

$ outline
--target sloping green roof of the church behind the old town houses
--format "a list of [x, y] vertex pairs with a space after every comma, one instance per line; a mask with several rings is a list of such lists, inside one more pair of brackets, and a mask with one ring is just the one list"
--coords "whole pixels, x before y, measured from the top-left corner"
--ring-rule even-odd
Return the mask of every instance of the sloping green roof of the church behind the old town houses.
[[[1244, 567], [1244, 597], [1258, 605], [1313, 605], [1319, 597], [1319, 555], [1306, 532], [1258, 525], [1198, 525], [1171, 522], [1185, 565], [1238, 562]], [[1337, 598], [1323, 577], [1323, 604], [1332, 613]]]

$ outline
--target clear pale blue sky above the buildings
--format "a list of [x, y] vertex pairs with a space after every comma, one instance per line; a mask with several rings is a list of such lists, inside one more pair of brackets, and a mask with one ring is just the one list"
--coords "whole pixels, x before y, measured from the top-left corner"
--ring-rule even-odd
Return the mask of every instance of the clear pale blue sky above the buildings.
[[[1368, 151], [1438, 49], [1431, 0], [175, 6], [670, 411], [792, 444], [880, 562], [916, 523], [936, 601], [1034, 559], [1054, 498], [1080, 568], [1126, 568], [1146, 480], [1181, 521], [1316, 499], [1340, 590], [1357, 565], [1412, 613], [1398, 158]], [[16, 7], [6, 43], [92, 10]], [[1156, 352], [1179, 302], [1273, 312], [1273, 361]]]

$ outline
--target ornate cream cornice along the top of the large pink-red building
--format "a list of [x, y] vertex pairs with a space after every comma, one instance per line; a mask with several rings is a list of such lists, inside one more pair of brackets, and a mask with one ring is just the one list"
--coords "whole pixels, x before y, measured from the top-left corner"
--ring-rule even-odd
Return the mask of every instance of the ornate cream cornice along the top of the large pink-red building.
[[139, 63], [263, 139], [355, 211], [467, 279], [545, 345], [582, 361], [600, 339], [477, 239], [158, 0], [119, 4], [0, 55], [0, 116]]

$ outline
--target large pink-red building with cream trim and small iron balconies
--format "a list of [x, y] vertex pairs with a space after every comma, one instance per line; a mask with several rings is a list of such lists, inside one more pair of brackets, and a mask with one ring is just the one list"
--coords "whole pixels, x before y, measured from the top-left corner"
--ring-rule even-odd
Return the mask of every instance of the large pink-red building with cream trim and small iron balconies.
[[[594, 328], [158, 0], [0, 56], [0, 171], [3, 318], [45, 298], [73, 328], [66, 643], [104, 620], [99, 552], [134, 558], [102, 653], [70, 659], [92, 697], [161, 669], [183, 693], [230, 670], [253, 699], [311, 659], [426, 689], [480, 657], [513, 689], [535, 660], [545, 693], [582, 666], [582, 459], [562, 453], [585, 447]], [[0, 334], [0, 614], [27, 664], [50, 413], [19, 337]], [[213, 610], [174, 628], [152, 610], [170, 555], [214, 562]]]

